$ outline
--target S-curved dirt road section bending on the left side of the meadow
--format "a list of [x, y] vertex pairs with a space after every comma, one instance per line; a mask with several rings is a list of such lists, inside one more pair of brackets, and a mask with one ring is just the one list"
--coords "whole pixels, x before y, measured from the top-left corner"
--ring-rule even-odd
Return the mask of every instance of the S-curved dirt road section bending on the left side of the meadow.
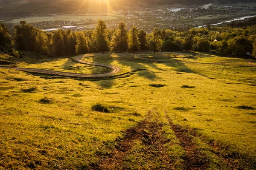
[[93, 57], [93, 56], [80, 55], [80, 56], [73, 58], [73, 60], [75, 62], [78, 62], [81, 64], [89, 64], [89, 65], [106, 67], [106, 68], [109, 68], [110, 71], [105, 72], [105, 73], [99, 73], [99, 74], [79, 74], [79, 73], [70, 73], [70, 72], [62, 72], [62, 71], [44, 70], [44, 69], [38, 69], [38, 68], [20, 68], [20, 67], [9, 67], [9, 66], [0, 66], [0, 68], [11, 68], [11, 69], [15, 69], [15, 70], [30, 72], [30, 73], [48, 74], [48, 75], [52, 75], [52, 76], [75, 77], [75, 78], [111, 77], [114, 74], [117, 74], [121, 71], [121, 68], [114, 66], [114, 65], [107, 65], [107, 64], [83, 61], [83, 60], [81, 60], [83, 57]]

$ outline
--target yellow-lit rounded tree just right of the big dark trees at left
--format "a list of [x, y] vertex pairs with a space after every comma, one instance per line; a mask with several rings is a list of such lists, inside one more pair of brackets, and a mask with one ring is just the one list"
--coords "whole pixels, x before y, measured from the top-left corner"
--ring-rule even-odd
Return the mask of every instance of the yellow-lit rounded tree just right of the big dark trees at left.
[[35, 37], [35, 51], [40, 54], [47, 54], [47, 35], [40, 31]]

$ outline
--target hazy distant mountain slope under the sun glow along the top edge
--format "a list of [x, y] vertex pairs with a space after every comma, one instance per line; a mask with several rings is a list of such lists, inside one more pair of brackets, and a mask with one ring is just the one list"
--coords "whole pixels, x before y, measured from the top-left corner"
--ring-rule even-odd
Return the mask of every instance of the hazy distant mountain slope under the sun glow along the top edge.
[[256, 2], [256, 0], [0, 0], [0, 17], [23, 17], [35, 14], [71, 13], [78, 9], [113, 9], [144, 4], [163, 5], [183, 3], [197, 5], [206, 3]]

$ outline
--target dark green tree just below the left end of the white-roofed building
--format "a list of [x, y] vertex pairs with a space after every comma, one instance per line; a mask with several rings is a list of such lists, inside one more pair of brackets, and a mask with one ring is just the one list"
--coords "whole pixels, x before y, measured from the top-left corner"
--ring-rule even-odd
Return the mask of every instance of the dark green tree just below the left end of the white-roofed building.
[[61, 56], [64, 54], [64, 40], [61, 34], [61, 29], [53, 31], [52, 34], [53, 53], [56, 56]]

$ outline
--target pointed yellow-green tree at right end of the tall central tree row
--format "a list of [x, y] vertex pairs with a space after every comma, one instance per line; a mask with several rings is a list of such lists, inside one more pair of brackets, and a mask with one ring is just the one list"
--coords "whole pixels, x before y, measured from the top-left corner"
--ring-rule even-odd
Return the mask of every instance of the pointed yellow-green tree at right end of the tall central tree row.
[[161, 34], [160, 34], [160, 30], [158, 27], [154, 28], [153, 32], [152, 32], [152, 37], [150, 38], [149, 41], [149, 49], [154, 51], [154, 54], [156, 54], [156, 52], [161, 51], [163, 42], [161, 40]]

